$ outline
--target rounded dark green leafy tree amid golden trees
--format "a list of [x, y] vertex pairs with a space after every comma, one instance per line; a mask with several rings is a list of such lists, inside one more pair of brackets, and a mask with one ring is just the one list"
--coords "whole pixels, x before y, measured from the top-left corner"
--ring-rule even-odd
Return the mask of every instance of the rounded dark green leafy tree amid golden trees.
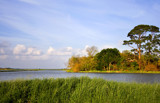
[[98, 53], [96, 56], [96, 60], [98, 63], [98, 69], [102, 70], [110, 70], [111, 64], [115, 64], [118, 62], [120, 58], [120, 52], [118, 49], [114, 48], [108, 48], [103, 49], [100, 53]]

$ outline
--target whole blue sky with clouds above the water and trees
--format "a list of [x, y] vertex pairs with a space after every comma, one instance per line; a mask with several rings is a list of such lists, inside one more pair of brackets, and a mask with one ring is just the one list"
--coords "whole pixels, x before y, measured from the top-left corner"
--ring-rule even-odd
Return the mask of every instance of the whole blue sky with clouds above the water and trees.
[[122, 45], [139, 24], [160, 27], [159, 0], [0, 0], [0, 67], [66, 68], [86, 56]]

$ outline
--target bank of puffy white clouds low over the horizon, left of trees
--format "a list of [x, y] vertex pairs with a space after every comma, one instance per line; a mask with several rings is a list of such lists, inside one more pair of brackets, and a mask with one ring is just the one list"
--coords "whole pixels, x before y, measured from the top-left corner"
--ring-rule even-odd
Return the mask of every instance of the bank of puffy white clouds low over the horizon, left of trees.
[[[41, 50], [37, 48], [17, 44], [14, 48], [9, 47], [10, 49], [12, 48], [12, 54], [0, 55], [0, 60], [4, 61], [0, 62], [0, 65], [15, 68], [22, 68], [23, 66], [25, 68], [52, 68], [52, 66], [53, 68], [66, 67], [68, 59], [73, 54], [86, 56], [86, 49], [88, 47], [89, 46], [86, 45], [83, 49], [72, 47], [54, 49], [50, 46], [46, 52], [41, 53]], [[1, 51], [3, 50], [1, 49]], [[6, 61], [9, 61], [9, 64], [7, 64]]]

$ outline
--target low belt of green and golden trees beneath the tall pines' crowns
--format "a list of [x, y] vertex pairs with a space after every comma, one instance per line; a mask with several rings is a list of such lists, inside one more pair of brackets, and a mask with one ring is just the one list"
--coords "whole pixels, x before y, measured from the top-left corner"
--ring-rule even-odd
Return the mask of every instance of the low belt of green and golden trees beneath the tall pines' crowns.
[[[93, 51], [97, 51], [95, 46], [88, 49], [95, 48]], [[89, 52], [88, 52], [89, 54]], [[139, 68], [138, 55], [132, 53], [129, 50], [124, 50], [122, 53], [116, 48], [103, 49], [101, 52], [97, 52], [95, 55], [88, 56], [72, 56], [68, 62], [68, 68], [74, 72], [78, 71], [91, 71], [91, 70], [145, 70], [145, 71], [159, 71], [160, 70], [160, 58], [158, 56], [150, 56], [148, 61], [148, 55], [141, 55], [141, 68]]]

